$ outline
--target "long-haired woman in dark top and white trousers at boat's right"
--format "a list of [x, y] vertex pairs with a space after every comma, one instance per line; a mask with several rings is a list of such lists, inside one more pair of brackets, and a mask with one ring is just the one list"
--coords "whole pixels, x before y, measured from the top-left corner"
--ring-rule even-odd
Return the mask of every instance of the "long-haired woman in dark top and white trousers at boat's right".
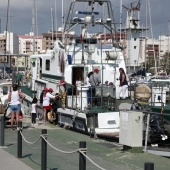
[[[122, 94], [122, 99], [126, 99], [126, 90], [128, 88], [128, 82], [126, 79], [126, 74], [123, 68], [119, 68], [119, 73], [120, 73], [120, 91], [119, 91], [119, 95], [121, 96]], [[121, 97], [120, 97], [121, 98]]]

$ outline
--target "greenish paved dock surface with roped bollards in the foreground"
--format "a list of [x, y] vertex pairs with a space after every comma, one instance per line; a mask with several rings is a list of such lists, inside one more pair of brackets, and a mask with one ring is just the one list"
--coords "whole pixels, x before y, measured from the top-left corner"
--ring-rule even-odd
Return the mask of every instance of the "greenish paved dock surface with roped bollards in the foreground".
[[[40, 137], [42, 129], [47, 129], [47, 140], [55, 148], [63, 151], [73, 151], [79, 148], [79, 141], [86, 141], [87, 156], [105, 170], [144, 170], [145, 162], [153, 162], [154, 170], [169, 170], [169, 158], [150, 153], [130, 153], [122, 151], [122, 146], [116, 142], [90, 138], [75, 131], [66, 130], [48, 122], [38, 122], [32, 127], [30, 118], [22, 119], [22, 134], [26, 140], [34, 142]], [[40, 170], [41, 140], [31, 145], [22, 141], [22, 158], [17, 158], [17, 130], [5, 129], [5, 148], [0, 149], [0, 165], [3, 170]], [[87, 170], [98, 170], [86, 160]], [[13, 165], [13, 166], [12, 166]], [[14, 166], [16, 165], [16, 166]], [[12, 167], [12, 168], [11, 168]], [[60, 153], [47, 146], [48, 170], [79, 170], [79, 154]]]

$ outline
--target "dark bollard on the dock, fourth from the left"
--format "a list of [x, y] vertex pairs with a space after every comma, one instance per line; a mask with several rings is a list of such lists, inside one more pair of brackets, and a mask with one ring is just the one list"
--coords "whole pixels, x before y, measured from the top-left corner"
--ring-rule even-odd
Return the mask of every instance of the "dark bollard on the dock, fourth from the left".
[[[80, 141], [79, 148], [86, 148], [86, 142]], [[86, 154], [86, 152], [84, 152], [84, 154]], [[86, 170], [86, 157], [82, 153], [79, 153], [79, 170]]]

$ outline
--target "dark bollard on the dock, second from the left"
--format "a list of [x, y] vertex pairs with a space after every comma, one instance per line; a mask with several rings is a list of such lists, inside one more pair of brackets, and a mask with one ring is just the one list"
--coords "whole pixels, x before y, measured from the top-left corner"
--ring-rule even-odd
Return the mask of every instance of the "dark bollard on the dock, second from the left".
[[22, 136], [21, 136], [21, 133], [22, 132], [22, 122], [19, 121], [18, 122], [18, 151], [17, 151], [17, 157], [18, 158], [22, 158]]

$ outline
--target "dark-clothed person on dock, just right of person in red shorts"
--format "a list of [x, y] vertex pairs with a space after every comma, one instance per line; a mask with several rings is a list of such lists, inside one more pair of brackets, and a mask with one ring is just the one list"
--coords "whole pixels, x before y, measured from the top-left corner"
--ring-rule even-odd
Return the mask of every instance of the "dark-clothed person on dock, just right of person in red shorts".
[[61, 107], [61, 98], [59, 96], [59, 93], [55, 94], [55, 100], [52, 101], [52, 111], [54, 115], [55, 123], [58, 122], [58, 116], [57, 116], [57, 109]]

